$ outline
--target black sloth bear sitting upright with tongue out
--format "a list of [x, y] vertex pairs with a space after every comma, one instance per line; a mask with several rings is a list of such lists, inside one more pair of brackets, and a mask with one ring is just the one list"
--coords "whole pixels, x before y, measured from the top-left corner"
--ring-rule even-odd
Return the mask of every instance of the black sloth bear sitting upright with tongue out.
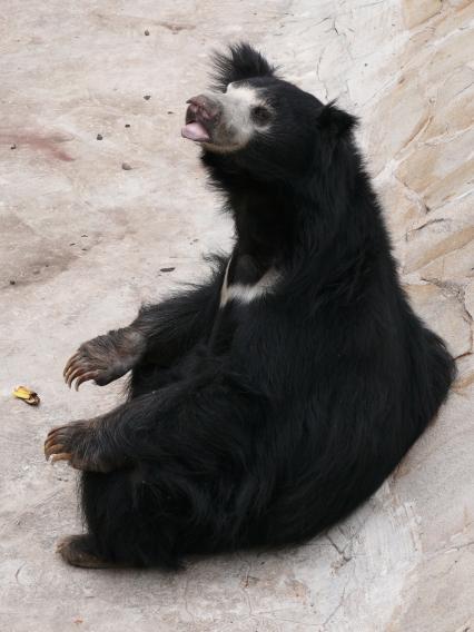
[[313, 537], [377, 490], [453, 379], [401, 289], [354, 117], [247, 43], [214, 62], [181, 134], [235, 246], [66, 365], [76, 387], [131, 371], [126, 403], [45, 444], [83, 471], [87, 533], [58, 547], [70, 564], [179, 567]]

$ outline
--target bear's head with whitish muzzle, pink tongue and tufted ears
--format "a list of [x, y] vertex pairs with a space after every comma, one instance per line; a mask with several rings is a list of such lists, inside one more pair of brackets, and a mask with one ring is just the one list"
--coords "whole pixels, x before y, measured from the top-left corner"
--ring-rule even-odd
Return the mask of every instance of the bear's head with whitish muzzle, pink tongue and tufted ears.
[[248, 43], [216, 55], [214, 66], [213, 88], [187, 101], [181, 135], [200, 144], [205, 155], [226, 157], [229, 168], [247, 167], [266, 179], [303, 172], [355, 124], [333, 103], [280, 79]]

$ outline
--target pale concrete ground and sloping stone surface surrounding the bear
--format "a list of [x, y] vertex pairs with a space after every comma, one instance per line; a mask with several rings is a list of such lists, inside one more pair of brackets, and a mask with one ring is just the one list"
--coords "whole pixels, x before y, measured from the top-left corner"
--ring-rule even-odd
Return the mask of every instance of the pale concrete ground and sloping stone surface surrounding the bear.
[[[473, 629], [473, 17], [468, 0], [2, 0], [1, 630]], [[121, 385], [70, 393], [62, 366], [228, 246], [179, 130], [209, 51], [240, 38], [361, 117], [403, 282], [458, 378], [389, 481], [306, 546], [170, 574], [71, 569], [55, 542], [80, 530], [76, 473], [42, 442]]]

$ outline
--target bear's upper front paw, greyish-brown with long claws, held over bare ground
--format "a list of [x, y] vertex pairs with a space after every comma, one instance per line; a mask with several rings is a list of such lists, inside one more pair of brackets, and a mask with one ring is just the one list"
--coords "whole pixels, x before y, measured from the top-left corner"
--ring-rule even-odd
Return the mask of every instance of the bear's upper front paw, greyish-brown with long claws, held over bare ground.
[[76, 381], [76, 391], [89, 379], [105, 386], [130, 371], [144, 350], [145, 337], [130, 327], [98, 336], [83, 343], [69, 358], [63, 371], [65, 382], [70, 388]]

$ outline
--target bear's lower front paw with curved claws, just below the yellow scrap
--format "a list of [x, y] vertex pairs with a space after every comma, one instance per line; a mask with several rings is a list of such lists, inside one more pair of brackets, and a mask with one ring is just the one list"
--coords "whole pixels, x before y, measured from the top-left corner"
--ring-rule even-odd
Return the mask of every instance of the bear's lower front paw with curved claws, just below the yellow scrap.
[[110, 472], [115, 468], [112, 460], [105, 455], [97, 432], [97, 419], [72, 422], [52, 428], [45, 442], [47, 460], [69, 461], [76, 470], [87, 472]]

